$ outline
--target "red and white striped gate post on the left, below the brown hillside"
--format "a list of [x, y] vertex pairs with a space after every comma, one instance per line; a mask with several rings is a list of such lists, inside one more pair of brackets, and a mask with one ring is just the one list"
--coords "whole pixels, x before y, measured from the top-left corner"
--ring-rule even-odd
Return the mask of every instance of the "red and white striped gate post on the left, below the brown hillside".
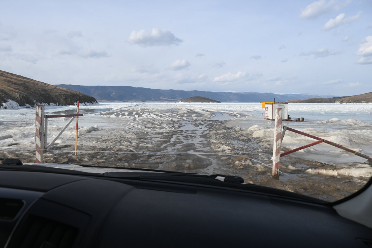
[[36, 163], [42, 163], [44, 155], [44, 105], [36, 105], [35, 112]]

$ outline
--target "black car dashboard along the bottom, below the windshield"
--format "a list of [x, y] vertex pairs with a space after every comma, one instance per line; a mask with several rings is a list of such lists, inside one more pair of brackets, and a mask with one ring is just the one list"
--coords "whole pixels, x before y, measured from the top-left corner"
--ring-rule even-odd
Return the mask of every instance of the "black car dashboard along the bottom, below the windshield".
[[0, 247], [370, 247], [372, 229], [285, 194], [0, 171]]

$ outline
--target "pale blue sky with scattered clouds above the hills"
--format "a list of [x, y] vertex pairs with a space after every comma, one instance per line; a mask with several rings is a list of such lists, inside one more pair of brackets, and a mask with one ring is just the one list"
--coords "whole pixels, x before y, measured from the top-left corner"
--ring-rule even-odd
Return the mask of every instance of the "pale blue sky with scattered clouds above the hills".
[[372, 1], [4, 1], [0, 70], [49, 84], [372, 91]]

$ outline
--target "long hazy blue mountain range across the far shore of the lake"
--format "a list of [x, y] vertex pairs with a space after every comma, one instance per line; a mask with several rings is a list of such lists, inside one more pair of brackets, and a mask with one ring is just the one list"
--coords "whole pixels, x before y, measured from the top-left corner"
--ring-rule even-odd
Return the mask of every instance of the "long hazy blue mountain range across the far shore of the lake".
[[98, 101], [119, 102], [179, 102], [182, 99], [202, 96], [219, 102], [276, 102], [310, 97], [334, 97], [314, 94], [274, 94], [257, 92], [212, 92], [199, 90], [160, 90], [131, 86], [81, 86], [56, 84], [58, 87], [78, 91], [94, 97]]

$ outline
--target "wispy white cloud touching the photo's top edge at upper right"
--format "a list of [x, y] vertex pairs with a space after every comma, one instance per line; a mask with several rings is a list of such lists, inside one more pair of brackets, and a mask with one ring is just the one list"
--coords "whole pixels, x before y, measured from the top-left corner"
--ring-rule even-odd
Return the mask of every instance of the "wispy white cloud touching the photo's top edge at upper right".
[[325, 0], [320, 0], [309, 4], [305, 9], [301, 9], [299, 17], [305, 19], [316, 18], [333, 10], [339, 10], [349, 3], [350, 0], [342, 2], [336, 0], [330, 0], [328, 2]]

